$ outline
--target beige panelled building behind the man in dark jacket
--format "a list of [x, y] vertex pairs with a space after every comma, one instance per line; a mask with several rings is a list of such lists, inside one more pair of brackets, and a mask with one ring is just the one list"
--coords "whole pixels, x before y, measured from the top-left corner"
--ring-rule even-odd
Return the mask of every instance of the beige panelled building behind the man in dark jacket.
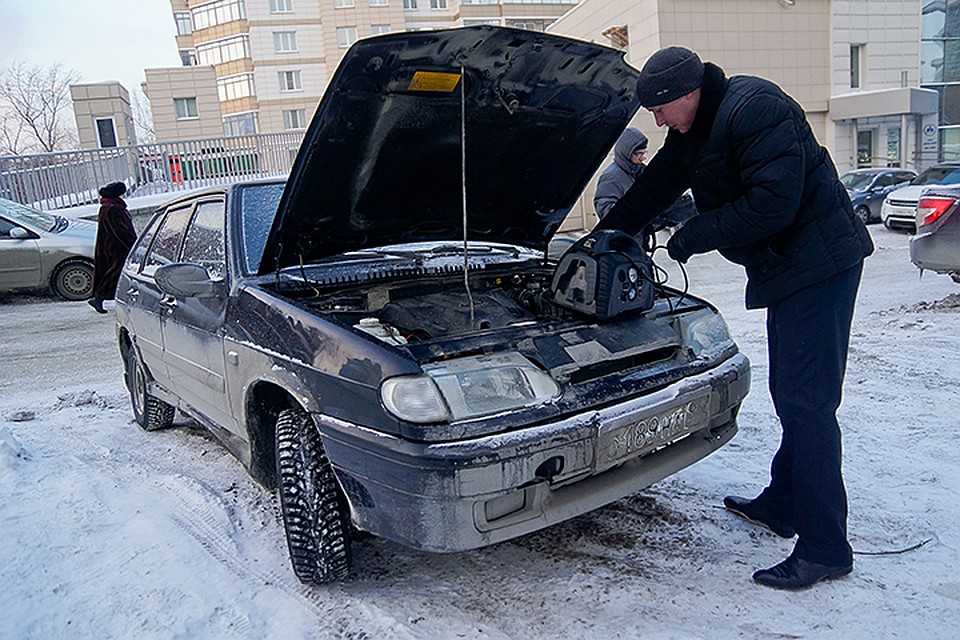
[[[681, 45], [728, 75], [768, 78], [804, 108], [842, 172], [936, 161], [936, 94], [919, 89], [920, 0], [583, 0], [548, 31], [614, 46], [642, 67]], [[659, 148], [666, 131], [632, 122]], [[567, 228], [595, 221], [591, 184]]]

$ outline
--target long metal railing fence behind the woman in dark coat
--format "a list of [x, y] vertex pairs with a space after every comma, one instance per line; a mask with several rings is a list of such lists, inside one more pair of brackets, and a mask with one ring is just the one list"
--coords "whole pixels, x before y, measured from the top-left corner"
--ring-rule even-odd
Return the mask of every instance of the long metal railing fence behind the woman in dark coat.
[[302, 140], [302, 132], [266, 133], [0, 156], [0, 198], [61, 209], [97, 202], [97, 189], [109, 182], [141, 196], [280, 176], [289, 173]]

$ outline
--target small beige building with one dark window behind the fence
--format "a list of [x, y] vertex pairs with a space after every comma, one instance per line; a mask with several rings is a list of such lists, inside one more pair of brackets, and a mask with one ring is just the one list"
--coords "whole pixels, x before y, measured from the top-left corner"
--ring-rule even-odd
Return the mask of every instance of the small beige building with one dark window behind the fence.
[[109, 149], [137, 143], [130, 94], [119, 82], [70, 86], [81, 149]]

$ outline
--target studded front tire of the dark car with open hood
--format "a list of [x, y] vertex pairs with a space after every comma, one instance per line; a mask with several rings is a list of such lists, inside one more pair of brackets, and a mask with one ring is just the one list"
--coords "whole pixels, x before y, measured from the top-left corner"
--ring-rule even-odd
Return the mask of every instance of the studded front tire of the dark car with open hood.
[[350, 573], [350, 519], [346, 500], [310, 416], [287, 409], [277, 418], [277, 492], [290, 562], [306, 584]]

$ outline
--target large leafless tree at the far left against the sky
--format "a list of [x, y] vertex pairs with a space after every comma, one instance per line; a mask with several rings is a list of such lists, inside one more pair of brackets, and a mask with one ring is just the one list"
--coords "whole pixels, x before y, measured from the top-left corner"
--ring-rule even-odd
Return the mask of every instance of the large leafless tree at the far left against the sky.
[[[63, 65], [30, 66], [14, 62], [0, 72], [3, 134], [24, 136], [41, 151], [62, 148], [73, 139], [70, 85], [80, 75]], [[21, 151], [22, 152], [22, 151]]]

